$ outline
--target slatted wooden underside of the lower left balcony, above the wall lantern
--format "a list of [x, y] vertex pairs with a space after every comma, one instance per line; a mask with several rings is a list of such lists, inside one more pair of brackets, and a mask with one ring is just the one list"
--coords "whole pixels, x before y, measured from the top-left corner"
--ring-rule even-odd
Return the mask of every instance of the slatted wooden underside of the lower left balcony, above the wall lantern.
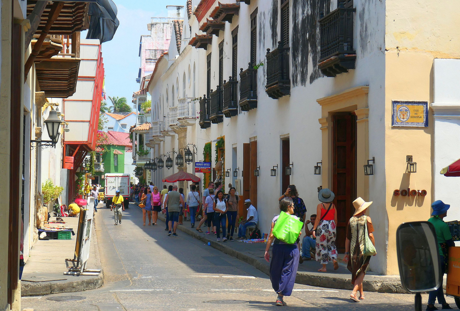
[[35, 64], [40, 90], [46, 97], [67, 98], [77, 87], [80, 59], [73, 57], [53, 57]]

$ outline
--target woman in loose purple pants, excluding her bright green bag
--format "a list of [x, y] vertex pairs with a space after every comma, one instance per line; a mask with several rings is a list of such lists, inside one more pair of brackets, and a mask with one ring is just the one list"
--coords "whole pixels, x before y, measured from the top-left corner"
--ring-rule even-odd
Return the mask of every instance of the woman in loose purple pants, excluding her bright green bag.
[[[292, 198], [283, 198], [280, 201], [280, 210], [288, 213], [294, 213], [294, 205]], [[278, 297], [276, 298], [276, 305], [286, 305], [283, 298], [290, 296], [294, 288], [295, 277], [297, 275], [297, 268], [299, 266], [300, 252], [297, 247], [299, 238], [293, 244], [287, 244], [278, 240], [273, 235], [273, 227], [279, 216], [275, 216], [271, 221], [270, 235], [265, 248], [265, 260], [270, 261], [270, 245], [273, 242], [273, 249], [271, 250], [272, 258], [270, 262], [270, 281], [271, 286], [275, 290]]]

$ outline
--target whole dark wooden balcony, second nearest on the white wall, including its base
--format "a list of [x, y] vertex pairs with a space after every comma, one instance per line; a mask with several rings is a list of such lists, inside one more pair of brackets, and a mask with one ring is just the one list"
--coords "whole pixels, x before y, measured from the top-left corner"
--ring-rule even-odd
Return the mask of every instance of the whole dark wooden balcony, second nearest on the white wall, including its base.
[[291, 79], [289, 77], [289, 48], [281, 47], [271, 51], [267, 49], [267, 84], [265, 92], [273, 99], [291, 94]]

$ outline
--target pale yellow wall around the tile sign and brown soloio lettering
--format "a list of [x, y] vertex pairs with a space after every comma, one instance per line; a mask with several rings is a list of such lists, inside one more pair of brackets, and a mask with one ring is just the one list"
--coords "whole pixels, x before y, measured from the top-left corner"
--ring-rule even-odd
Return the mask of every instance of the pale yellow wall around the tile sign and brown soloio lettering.
[[[402, 222], [426, 221], [433, 200], [433, 118], [427, 128], [391, 127], [391, 101], [433, 100], [433, 59], [460, 57], [458, 1], [386, 1], [385, 174], [388, 212], [387, 274], [398, 274], [396, 230]], [[406, 173], [406, 155], [417, 173]], [[426, 190], [426, 197], [395, 197], [395, 189]]]

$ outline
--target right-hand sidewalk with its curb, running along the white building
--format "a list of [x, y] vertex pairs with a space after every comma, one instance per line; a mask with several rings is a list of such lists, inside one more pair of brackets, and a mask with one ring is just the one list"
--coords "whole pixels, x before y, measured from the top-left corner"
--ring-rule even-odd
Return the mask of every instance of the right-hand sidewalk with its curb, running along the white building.
[[[159, 214], [158, 219], [163, 222], [165, 221], [163, 214]], [[270, 264], [264, 258], [265, 243], [251, 244], [239, 241], [216, 242], [215, 235], [205, 235], [204, 232], [206, 230], [203, 228], [203, 233], [195, 229], [190, 228], [190, 221], [184, 221], [184, 225], [178, 226], [178, 230], [205, 243], [210, 242], [213, 248], [219, 249], [225, 254], [229, 254], [239, 260], [243, 260], [267, 275], [270, 274]], [[237, 235], [235, 234], [234, 237], [237, 237]], [[326, 273], [318, 272], [317, 270], [320, 267], [321, 265], [315, 260], [304, 261], [303, 264], [299, 264], [295, 283], [325, 288], [353, 289], [351, 285], [351, 273], [344, 263], [339, 263], [339, 269], [336, 271], [334, 271], [332, 264], [328, 265], [328, 272]], [[401, 286], [399, 276], [376, 275], [372, 271], [368, 271], [366, 277], [364, 277], [363, 287], [368, 292], [407, 294]]]

